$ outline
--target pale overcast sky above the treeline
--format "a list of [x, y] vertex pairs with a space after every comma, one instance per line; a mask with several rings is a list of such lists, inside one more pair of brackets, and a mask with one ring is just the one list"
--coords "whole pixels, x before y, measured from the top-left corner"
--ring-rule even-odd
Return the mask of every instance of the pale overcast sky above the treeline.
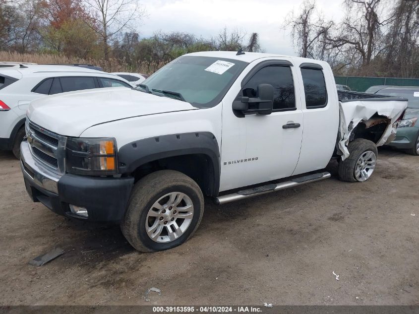
[[[291, 10], [297, 11], [302, 0], [141, 0], [147, 11], [139, 32], [142, 37], [157, 30], [180, 31], [215, 37], [227, 26], [249, 35], [257, 32], [261, 47], [266, 52], [295, 55], [290, 31], [281, 25]], [[326, 17], [339, 21], [342, 17], [341, 0], [317, 0], [317, 7]]]

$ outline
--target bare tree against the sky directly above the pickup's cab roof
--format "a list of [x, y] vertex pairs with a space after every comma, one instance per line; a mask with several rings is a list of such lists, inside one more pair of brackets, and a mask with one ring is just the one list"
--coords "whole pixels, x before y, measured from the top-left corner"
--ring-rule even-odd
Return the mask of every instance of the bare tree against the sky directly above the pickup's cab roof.
[[298, 13], [291, 11], [283, 28], [291, 26], [291, 38], [294, 48], [303, 58], [324, 59], [326, 46], [324, 39], [329, 36], [333, 21], [326, 21], [316, 10], [315, 1], [304, 0]]

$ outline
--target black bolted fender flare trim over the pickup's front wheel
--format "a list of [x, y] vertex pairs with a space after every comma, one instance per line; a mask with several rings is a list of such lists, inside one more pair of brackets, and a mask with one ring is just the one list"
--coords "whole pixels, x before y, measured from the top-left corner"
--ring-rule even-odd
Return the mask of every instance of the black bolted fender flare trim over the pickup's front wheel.
[[127, 143], [118, 149], [118, 172], [131, 174], [152, 161], [192, 154], [206, 155], [211, 160], [214, 174], [211, 192], [217, 195], [220, 188], [220, 150], [211, 132], [162, 135]]

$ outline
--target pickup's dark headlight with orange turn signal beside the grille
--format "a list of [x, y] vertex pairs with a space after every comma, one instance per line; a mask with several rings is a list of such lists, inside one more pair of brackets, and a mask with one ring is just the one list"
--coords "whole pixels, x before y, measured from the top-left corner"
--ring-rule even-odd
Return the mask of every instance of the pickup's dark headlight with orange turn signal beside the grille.
[[68, 173], [109, 176], [117, 173], [115, 138], [67, 138], [65, 164]]

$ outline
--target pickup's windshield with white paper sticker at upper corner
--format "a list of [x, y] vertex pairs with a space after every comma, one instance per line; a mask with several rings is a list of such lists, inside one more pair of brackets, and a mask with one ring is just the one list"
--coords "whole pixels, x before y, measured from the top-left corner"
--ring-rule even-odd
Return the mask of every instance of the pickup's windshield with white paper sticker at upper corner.
[[217, 105], [248, 63], [213, 57], [183, 56], [168, 63], [135, 89], [184, 100], [195, 107]]

